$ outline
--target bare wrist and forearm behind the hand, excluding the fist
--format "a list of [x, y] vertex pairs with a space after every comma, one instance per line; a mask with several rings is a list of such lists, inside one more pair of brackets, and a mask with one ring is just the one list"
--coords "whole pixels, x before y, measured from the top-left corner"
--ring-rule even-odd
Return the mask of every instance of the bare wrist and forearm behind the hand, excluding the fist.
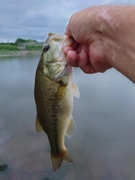
[[108, 63], [135, 83], [135, 6], [99, 8], [99, 33]]

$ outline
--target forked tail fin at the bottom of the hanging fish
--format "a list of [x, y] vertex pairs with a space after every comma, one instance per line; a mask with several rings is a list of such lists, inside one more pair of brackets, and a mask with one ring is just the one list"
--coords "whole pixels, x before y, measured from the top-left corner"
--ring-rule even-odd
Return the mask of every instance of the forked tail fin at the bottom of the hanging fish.
[[53, 170], [54, 171], [59, 169], [59, 167], [61, 166], [63, 160], [66, 160], [69, 163], [73, 163], [73, 159], [72, 159], [72, 157], [69, 154], [67, 149], [62, 151], [60, 155], [56, 155], [56, 154], [51, 153], [51, 158], [52, 158], [52, 165], [53, 165]]

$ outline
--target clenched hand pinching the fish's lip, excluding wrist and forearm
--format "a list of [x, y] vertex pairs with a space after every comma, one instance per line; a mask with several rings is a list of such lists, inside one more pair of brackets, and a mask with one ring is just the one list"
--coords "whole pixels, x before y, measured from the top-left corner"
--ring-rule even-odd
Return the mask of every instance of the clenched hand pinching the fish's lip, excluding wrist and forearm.
[[75, 40], [71, 47], [65, 47], [69, 65], [80, 67], [85, 73], [105, 72], [112, 66], [107, 62], [104, 36], [99, 31], [96, 7], [75, 13], [70, 18], [66, 35]]

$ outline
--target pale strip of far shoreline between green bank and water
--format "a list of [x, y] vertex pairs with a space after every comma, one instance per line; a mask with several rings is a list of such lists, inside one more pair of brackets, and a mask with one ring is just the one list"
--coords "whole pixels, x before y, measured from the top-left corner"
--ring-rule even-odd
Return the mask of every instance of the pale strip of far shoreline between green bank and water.
[[11, 51], [11, 52], [0, 52], [0, 58], [1, 57], [9, 57], [9, 56], [26, 56], [31, 54], [41, 54], [41, 51]]

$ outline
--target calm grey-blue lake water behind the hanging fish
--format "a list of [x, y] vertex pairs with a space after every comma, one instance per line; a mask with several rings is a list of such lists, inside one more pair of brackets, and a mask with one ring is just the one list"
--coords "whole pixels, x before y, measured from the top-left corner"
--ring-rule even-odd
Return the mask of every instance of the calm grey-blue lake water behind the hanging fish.
[[45, 133], [35, 130], [34, 78], [40, 55], [0, 58], [1, 180], [135, 180], [135, 85], [112, 69], [74, 69], [76, 134], [66, 146], [74, 162], [52, 169]]

